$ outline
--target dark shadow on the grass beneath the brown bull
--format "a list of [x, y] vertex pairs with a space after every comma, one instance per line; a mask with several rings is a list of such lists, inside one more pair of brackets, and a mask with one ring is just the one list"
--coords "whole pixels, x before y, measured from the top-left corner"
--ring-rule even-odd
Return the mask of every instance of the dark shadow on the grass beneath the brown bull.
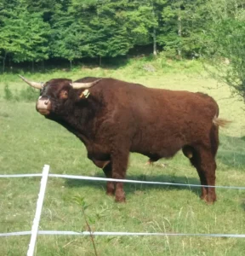
[[[95, 177], [105, 177], [102, 173], [96, 173]], [[201, 195], [201, 188], [200, 187], [191, 187], [188, 184], [197, 184], [200, 185], [199, 178], [190, 177], [176, 177], [171, 175], [158, 175], [158, 176], [146, 176], [146, 175], [128, 175], [126, 177], [130, 180], [135, 181], [151, 181], [151, 182], [162, 182], [162, 183], [184, 183], [186, 186], [179, 186], [179, 185], [158, 185], [158, 184], [144, 184], [144, 183], [124, 183], [124, 190], [126, 194], [134, 194], [135, 190], [146, 191], [149, 189], [162, 189], [162, 190], [171, 190], [171, 189], [178, 189], [178, 190], [190, 190], [196, 195]], [[88, 181], [88, 180], [78, 180], [78, 179], [67, 179], [66, 180], [67, 187], [93, 187], [97, 189], [105, 188], [106, 182], [97, 182], [97, 181]], [[103, 189], [104, 190], [104, 189]]]

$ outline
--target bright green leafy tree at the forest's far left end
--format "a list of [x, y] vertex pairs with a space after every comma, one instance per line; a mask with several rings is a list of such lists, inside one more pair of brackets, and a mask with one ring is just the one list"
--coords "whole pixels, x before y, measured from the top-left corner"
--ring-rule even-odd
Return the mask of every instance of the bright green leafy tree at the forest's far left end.
[[5, 56], [11, 54], [16, 62], [32, 61], [33, 64], [34, 61], [48, 59], [48, 33], [49, 26], [43, 22], [41, 15], [30, 14], [26, 5], [20, 2], [19, 6], [9, 11], [8, 17], [3, 18], [0, 49]]

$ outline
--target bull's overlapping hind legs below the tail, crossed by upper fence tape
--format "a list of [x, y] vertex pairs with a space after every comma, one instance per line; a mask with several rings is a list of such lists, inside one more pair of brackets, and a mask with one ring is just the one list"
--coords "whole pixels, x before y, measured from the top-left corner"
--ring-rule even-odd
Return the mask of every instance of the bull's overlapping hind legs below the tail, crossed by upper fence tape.
[[[204, 147], [195, 148], [190, 160], [197, 169], [201, 184], [215, 186], [216, 162], [212, 150]], [[215, 188], [202, 187], [201, 199], [208, 203], [216, 201]]]

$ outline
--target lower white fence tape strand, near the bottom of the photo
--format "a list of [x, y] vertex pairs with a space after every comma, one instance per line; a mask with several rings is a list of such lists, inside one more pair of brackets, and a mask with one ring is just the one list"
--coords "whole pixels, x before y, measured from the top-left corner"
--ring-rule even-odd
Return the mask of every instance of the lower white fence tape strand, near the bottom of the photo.
[[[1, 236], [28, 236], [31, 231], [20, 231], [13, 233], [0, 233]], [[134, 233], [134, 232], [75, 232], [75, 231], [55, 231], [55, 230], [39, 230], [38, 235], [51, 236], [208, 236], [208, 237], [232, 237], [245, 238], [245, 234], [188, 234], [188, 233]]]

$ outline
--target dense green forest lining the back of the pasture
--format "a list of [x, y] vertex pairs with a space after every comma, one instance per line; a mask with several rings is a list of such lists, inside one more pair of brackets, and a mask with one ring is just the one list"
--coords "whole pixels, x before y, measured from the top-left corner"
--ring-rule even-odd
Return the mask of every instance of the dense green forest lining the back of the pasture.
[[225, 37], [236, 31], [235, 44], [237, 32], [245, 38], [244, 6], [244, 0], [2, 0], [1, 72], [14, 63], [72, 65], [89, 58], [101, 64], [103, 58], [162, 52], [231, 59], [232, 38]]

